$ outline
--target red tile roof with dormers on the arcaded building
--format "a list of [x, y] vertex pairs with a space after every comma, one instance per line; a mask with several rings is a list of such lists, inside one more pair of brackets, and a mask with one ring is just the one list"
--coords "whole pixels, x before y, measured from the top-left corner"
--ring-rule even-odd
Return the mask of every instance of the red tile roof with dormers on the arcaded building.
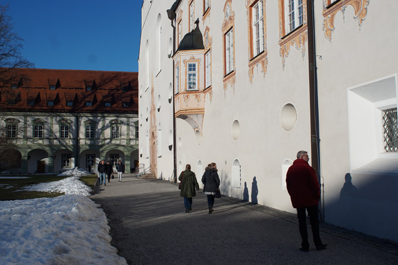
[[[1, 94], [1, 111], [43, 111], [43, 112], [100, 112], [138, 114], [138, 73], [87, 70], [18, 69], [27, 76], [28, 82], [18, 84], [17, 89], [5, 87]], [[56, 85], [50, 90], [50, 85]], [[86, 86], [92, 86], [86, 91]], [[127, 87], [122, 92], [122, 87]], [[7, 105], [14, 100], [14, 105]], [[34, 101], [33, 106], [28, 101]], [[47, 106], [54, 101], [54, 106]], [[72, 101], [73, 106], [66, 102]], [[91, 101], [92, 106], [85, 106]], [[111, 107], [105, 107], [110, 102]], [[123, 103], [129, 103], [123, 107]]]

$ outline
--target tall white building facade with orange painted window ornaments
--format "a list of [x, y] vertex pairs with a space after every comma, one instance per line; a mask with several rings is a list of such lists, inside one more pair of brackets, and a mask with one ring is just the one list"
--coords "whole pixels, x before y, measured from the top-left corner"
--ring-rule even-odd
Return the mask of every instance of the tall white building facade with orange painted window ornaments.
[[285, 174], [306, 150], [323, 221], [398, 241], [398, 7], [311, 2], [144, 0], [140, 163], [168, 180], [176, 148], [177, 174], [216, 162], [223, 194], [295, 212]]

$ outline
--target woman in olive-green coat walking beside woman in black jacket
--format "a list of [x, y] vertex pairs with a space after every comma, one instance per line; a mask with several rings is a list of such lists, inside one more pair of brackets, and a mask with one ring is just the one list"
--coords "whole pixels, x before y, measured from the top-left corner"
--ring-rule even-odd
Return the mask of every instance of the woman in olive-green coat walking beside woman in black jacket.
[[196, 191], [199, 190], [199, 184], [196, 180], [195, 173], [191, 171], [191, 165], [187, 164], [185, 171], [181, 172], [178, 180], [181, 181], [180, 196], [184, 197], [185, 212], [192, 210], [192, 197], [196, 196]]

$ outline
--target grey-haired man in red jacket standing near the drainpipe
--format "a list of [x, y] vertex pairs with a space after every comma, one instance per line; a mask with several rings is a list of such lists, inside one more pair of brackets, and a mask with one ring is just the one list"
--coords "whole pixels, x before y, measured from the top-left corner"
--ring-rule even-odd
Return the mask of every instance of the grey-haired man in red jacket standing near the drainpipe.
[[311, 229], [313, 231], [313, 242], [316, 250], [322, 250], [328, 244], [323, 244], [319, 237], [318, 223], [318, 202], [320, 198], [319, 183], [315, 170], [308, 164], [307, 151], [299, 151], [297, 159], [289, 167], [286, 173], [286, 187], [289, 192], [291, 204], [297, 209], [299, 220], [299, 230], [303, 241], [301, 251], [308, 252], [310, 243], [308, 242], [306, 209], [310, 216]]

